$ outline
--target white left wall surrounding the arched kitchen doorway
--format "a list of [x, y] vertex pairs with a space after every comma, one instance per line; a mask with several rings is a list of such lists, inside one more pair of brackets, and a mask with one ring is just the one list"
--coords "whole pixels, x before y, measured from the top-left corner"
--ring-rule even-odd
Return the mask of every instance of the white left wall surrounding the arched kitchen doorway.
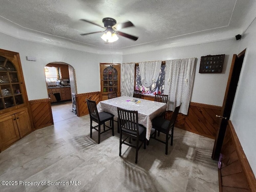
[[[28, 100], [47, 98], [44, 66], [50, 62], [65, 62], [76, 71], [77, 93], [100, 91], [100, 62], [121, 63], [122, 55], [93, 54], [58, 46], [20, 40], [0, 33], [1, 49], [20, 54]], [[26, 56], [37, 61], [27, 61]]]

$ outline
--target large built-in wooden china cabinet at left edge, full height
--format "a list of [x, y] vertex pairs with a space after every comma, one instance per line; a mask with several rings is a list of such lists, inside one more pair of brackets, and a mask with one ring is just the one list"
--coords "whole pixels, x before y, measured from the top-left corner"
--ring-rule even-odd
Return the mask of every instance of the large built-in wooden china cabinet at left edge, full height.
[[32, 132], [20, 56], [0, 49], [0, 152]]

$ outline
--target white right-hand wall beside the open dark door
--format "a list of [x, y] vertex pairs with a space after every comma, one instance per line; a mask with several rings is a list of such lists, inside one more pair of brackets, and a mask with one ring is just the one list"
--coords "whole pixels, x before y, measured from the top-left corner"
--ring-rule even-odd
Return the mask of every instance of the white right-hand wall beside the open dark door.
[[256, 20], [242, 35], [238, 53], [246, 48], [231, 121], [256, 175]]

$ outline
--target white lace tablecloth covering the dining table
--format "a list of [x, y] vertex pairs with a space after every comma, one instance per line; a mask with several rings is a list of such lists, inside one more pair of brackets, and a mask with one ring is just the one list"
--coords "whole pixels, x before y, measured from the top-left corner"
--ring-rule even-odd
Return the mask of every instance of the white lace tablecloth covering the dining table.
[[[140, 102], [132, 102], [138, 100]], [[105, 111], [118, 117], [117, 107], [138, 111], [138, 121], [147, 128], [146, 138], [149, 140], [152, 129], [151, 120], [166, 110], [166, 103], [150, 101], [145, 99], [121, 96], [113, 99], [104, 100], [98, 103], [98, 112]]]

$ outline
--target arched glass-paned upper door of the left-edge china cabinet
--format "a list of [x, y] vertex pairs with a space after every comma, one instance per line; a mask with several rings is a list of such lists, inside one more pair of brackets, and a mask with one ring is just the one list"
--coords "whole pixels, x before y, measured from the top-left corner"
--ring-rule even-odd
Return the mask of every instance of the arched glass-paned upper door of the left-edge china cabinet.
[[0, 110], [23, 104], [18, 72], [8, 58], [0, 56]]

